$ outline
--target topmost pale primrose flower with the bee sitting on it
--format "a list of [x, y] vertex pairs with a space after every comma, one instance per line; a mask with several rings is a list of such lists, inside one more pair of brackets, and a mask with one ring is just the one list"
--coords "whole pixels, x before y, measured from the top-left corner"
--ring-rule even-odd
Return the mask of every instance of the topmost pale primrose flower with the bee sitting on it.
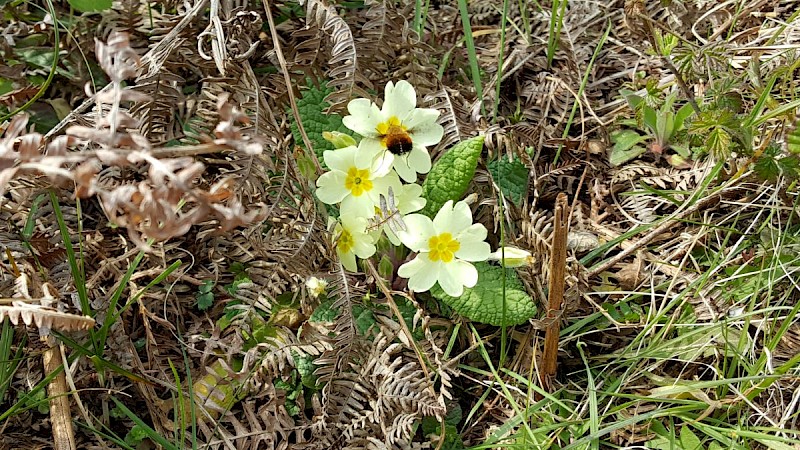
[[386, 84], [381, 109], [365, 98], [350, 101], [350, 115], [342, 123], [363, 137], [359, 160], [377, 153], [381, 165], [394, 167], [408, 183], [417, 180], [417, 173], [428, 173], [431, 155], [427, 147], [442, 140], [444, 129], [436, 123], [439, 111], [416, 106], [417, 93], [408, 81]]

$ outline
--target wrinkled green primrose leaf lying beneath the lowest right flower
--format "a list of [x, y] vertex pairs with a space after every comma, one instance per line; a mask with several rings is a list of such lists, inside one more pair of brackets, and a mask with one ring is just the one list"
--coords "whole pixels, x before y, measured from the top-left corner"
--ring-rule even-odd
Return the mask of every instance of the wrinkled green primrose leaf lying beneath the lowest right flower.
[[518, 325], [536, 314], [533, 299], [512, 269], [505, 269], [505, 318], [503, 317], [503, 268], [485, 262], [475, 263], [478, 269], [478, 284], [465, 288], [460, 297], [445, 294], [439, 285], [431, 294], [456, 310], [462, 316], [495, 326]]

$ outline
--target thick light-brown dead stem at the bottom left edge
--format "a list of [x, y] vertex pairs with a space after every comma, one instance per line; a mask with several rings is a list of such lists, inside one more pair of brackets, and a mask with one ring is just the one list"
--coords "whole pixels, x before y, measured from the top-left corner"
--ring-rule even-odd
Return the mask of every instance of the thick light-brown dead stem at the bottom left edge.
[[[42, 354], [45, 376], [59, 370], [62, 364], [59, 345], [55, 344]], [[66, 369], [65, 369], [66, 370]], [[72, 413], [67, 397], [67, 378], [64, 370], [58, 372], [47, 385], [47, 396], [50, 398], [50, 424], [53, 431], [53, 448], [55, 450], [75, 450], [75, 431], [72, 428]]]

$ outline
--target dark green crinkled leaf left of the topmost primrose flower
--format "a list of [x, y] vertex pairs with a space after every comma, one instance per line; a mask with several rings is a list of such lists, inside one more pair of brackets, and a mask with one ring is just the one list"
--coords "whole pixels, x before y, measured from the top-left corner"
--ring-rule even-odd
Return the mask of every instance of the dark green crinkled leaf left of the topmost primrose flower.
[[[342, 125], [342, 117], [338, 114], [325, 114], [325, 110], [330, 106], [330, 103], [325, 101], [325, 97], [333, 92], [333, 89], [328, 88], [327, 84], [321, 83], [319, 86], [315, 86], [313, 83], [309, 83], [308, 88], [300, 92], [302, 97], [297, 100], [300, 120], [303, 121], [303, 128], [308, 134], [311, 145], [314, 146], [314, 153], [317, 155], [317, 159], [324, 167], [325, 162], [322, 160], [322, 153], [325, 150], [334, 150], [335, 147], [323, 137], [323, 134], [326, 132], [339, 132], [352, 135], [352, 131]], [[300, 136], [300, 129], [297, 127], [291, 112], [288, 115], [292, 118], [290, 125], [294, 141], [297, 145], [303, 147], [303, 137]]]

